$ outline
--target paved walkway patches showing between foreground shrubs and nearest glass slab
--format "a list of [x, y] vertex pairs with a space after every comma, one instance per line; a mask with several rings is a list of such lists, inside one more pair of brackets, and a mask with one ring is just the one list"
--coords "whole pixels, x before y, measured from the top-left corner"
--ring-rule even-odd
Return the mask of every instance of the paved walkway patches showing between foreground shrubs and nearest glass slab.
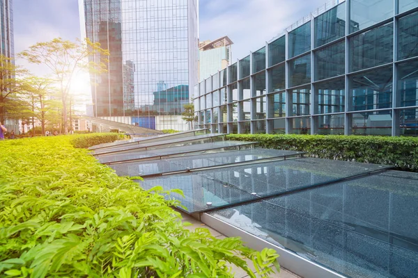
[[[189, 231], [194, 231], [196, 228], [207, 228], [210, 231], [210, 234], [212, 236], [215, 236], [215, 238], [225, 238], [225, 236], [219, 231], [212, 229], [211, 227], [207, 226], [206, 224], [200, 222], [199, 220], [196, 220], [192, 218], [192, 216], [187, 215], [186, 213], [181, 213], [183, 216], [183, 222], [189, 222], [192, 225], [185, 227], [185, 229], [188, 229]], [[280, 263], [280, 257], [279, 257], [279, 263]], [[256, 270], [254, 269], [254, 266], [252, 265], [251, 261], [248, 261], [247, 264], [249, 265], [249, 268], [256, 273]], [[235, 272], [235, 277], [237, 278], [247, 278], [249, 275], [244, 270], [237, 268], [235, 265], [232, 265], [233, 271]], [[273, 268], [275, 269], [275, 268]], [[281, 268], [279, 273], [274, 273], [273, 275], [270, 275], [272, 278], [300, 278], [299, 276], [293, 274], [292, 272]]]

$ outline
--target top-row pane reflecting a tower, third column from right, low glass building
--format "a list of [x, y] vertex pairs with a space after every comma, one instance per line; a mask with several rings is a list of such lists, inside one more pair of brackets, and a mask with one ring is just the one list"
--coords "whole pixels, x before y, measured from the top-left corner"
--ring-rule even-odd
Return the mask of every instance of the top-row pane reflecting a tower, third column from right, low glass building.
[[315, 46], [342, 38], [346, 34], [346, 3], [328, 10], [315, 19]]

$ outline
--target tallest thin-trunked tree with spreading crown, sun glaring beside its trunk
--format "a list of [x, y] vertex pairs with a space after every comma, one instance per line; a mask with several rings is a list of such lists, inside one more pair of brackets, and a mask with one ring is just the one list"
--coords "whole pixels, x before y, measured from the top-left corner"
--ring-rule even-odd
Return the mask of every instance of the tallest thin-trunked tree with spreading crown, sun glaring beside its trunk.
[[[81, 70], [88, 72], [106, 72], [109, 51], [102, 49], [99, 42], [84, 41], [71, 42], [55, 38], [50, 42], [38, 42], [22, 51], [20, 56], [29, 63], [46, 65], [52, 71], [54, 79], [61, 92], [62, 115], [64, 133], [68, 132], [67, 110], [68, 94], [74, 76]], [[98, 57], [98, 59], [88, 59]]]

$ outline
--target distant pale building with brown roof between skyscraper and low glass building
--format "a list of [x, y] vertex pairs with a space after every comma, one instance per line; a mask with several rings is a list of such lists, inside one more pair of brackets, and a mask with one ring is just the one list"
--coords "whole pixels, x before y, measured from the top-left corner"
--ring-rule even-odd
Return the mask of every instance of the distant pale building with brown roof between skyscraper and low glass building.
[[228, 36], [199, 43], [199, 82], [229, 66], [232, 44]]

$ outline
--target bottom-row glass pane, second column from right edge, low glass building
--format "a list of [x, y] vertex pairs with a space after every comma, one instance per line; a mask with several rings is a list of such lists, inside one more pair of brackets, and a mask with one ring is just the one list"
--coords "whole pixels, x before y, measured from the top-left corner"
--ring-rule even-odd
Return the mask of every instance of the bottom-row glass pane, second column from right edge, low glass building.
[[392, 135], [392, 111], [353, 114], [353, 135]]

